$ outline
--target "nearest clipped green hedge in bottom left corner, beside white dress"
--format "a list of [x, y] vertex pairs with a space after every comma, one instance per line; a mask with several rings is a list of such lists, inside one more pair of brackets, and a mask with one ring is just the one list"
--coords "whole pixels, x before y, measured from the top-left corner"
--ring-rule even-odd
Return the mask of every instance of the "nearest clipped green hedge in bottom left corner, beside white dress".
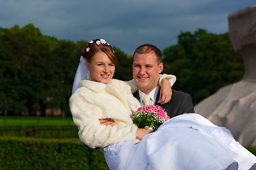
[[0, 169], [108, 169], [99, 149], [79, 139], [1, 137]]

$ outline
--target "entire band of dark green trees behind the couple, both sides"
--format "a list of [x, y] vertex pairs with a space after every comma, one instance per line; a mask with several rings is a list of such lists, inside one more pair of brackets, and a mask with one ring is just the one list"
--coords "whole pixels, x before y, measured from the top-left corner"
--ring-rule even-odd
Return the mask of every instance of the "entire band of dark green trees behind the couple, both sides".
[[[174, 89], [191, 94], [195, 103], [243, 77], [242, 57], [233, 51], [228, 33], [199, 29], [178, 39], [163, 52], [164, 71], [177, 76]], [[45, 115], [48, 108], [69, 115], [74, 74], [87, 42], [57, 40], [33, 24], [0, 28], [0, 115]], [[133, 58], [113, 48], [118, 60], [114, 78], [132, 79]]]

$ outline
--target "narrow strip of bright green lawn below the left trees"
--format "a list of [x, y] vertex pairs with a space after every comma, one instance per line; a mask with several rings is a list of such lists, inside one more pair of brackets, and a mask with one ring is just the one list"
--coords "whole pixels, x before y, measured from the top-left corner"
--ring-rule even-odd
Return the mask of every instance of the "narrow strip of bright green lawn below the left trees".
[[72, 118], [0, 117], [0, 125], [74, 125]]

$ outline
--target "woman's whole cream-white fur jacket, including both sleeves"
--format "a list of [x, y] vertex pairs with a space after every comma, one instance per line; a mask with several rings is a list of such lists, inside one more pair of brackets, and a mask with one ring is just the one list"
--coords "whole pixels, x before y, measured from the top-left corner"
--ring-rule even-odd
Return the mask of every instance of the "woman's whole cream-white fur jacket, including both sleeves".
[[[173, 75], [160, 75], [169, 79], [171, 86], [176, 81]], [[126, 82], [128, 83], [128, 82]], [[108, 84], [84, 80], [69, 99], [74, 124], [79, 128], [79, 138], [91, 148], [106, 147], [116, 142], [135, 140], [137, 126], [130, 118], [130, 109], [136, 111], [139, 101], [133, 97], [137, 86], [130, 81], [111, 79]], [[101, 125], [99, 119], [112, 118], [115, 126]]]

